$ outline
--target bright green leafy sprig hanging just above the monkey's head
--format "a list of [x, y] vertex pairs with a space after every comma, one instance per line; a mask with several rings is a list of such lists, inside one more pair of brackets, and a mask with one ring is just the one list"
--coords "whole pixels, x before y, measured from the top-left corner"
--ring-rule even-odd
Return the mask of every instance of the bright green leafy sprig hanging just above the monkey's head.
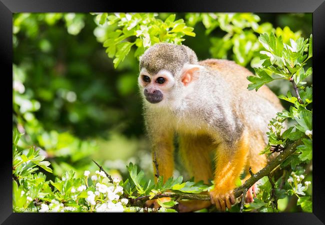
[[193, 28], [186, 26], [183, 19], [175, 20], [170, 14], [164, 21], [156, 18], [157, 13], [92, 13], [97, 25], [104, 28], [107, 35], [100, 36], [108, 57], [114, 58], [116, 68], [125, 56], [136, 46], [134, 57], [159, 42], [180, 44], [184, 35], [195, 36]]

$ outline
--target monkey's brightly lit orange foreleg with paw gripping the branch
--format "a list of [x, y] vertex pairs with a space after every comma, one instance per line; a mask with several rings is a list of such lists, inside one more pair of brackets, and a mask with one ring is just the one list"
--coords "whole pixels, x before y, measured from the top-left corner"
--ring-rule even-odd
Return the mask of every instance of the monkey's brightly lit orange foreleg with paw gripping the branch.
[[246, 164], [249, 152], [248, 135], [244, 131], [241, 138], [231, 145], [220, 143], [216, 151], [214, 188], [210, 191], [211, 201], [219, 210], [230, 208], [235, 202], [232, 190]]

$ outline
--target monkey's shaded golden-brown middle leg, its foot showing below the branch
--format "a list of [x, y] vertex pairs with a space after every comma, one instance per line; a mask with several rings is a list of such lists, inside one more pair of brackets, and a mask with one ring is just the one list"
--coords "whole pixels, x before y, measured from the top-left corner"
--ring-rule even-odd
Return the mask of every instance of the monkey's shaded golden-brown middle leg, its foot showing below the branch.
[[[212, 165], [210, 150], [213, 147], [212, 140], [205, 135], [180, 135], [179, 153], [184, 162], [184, 167], [194, 181], [203, 180], [208, 183], [212, 178]], [[215, 146], [214, 146], [215, 147]], [[180, 200], [178, 210], [180, 212], [196, 211], [210, 206], [211, 202], [202, 200]]]

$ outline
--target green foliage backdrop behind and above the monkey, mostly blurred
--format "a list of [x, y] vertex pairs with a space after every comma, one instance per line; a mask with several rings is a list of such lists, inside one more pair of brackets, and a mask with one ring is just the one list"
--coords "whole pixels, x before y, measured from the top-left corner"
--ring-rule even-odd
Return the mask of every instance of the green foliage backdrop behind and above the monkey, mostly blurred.
[[[15, 13], [12, 124], [24, 133], [17, 150], [34, 146], [51, 163], [39, 169], [46, 179], [70, 169], [77, 176], [94, 171], [94, 159], [121, 178], [131, 161], [148, 180], [152, 163], [137, 89], [138, 56], [148, 46], [182, 43], [199, 59], [228, 58], [255, 73], [260, 34], [273, 31], [289, 44], [289, 38], [309, 38], [311, 24], [311, 13]], [[310, 86], [311, 76], [305, 81]], [[277, 95], [294, 95], [290, 82], [269, 86]], [[294, 103], [284, 95], [281, 101], [287, 110]], [[190, 178], [176, 163], [179, 174]], [[307, 176], [311, 180], [310, 171]], [[290, 200], [283, 198], [282, 211], [301, 210]]]

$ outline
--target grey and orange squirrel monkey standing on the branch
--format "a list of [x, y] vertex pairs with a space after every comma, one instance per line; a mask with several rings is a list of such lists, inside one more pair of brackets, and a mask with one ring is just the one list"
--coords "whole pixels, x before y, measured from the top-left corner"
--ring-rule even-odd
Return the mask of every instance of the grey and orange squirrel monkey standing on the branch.
[[164, 181], [172, 176], [177, 134], [189, 174], [205, 183], [213, 178], [211, 202], [219, 210], [230, 208], [240, 174], [266, 165], [259, 152], [267, 143], [267, 123], [282, 110], [279, 99], [266, 86], [249, 91], [246, 77], [252, 73], [246, 68], [225, 59], [198, 61], [185, 45], [152, 45], [140, 57], [139, 70], [145, 127], [159, 174]]

